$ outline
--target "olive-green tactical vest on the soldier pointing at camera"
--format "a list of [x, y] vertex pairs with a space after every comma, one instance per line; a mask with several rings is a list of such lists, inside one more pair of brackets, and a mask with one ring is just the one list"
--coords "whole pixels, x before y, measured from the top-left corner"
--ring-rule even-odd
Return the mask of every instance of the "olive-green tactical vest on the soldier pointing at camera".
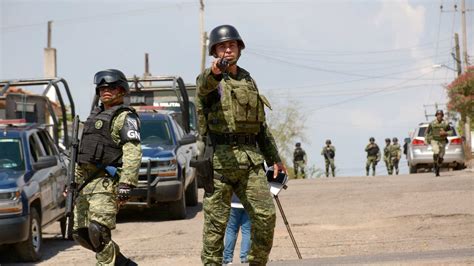
[[210, 132], [257, 134], [260, 131], [265, 122], [264, 105], [270, 108], [270, 103], [258, 93], [250, 76], [241, 80], [225, 77], [216, 93], [218, 100], [208, 103], [206, 120]]

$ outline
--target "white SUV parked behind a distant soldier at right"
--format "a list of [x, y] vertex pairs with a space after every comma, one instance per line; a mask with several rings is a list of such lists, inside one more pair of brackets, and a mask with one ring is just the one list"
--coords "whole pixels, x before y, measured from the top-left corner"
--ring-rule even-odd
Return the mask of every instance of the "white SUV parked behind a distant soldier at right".
[[[419, 169], [431, 170], [433, 168], [433, 150], [426, 143], [425, 135], [429, 123], [420, 123], [410, 138], [407, 150], [407, 162], [410, 173], [417, 173]], [[442, 168], [460, 170], [465, 168], [464, 148], [461, 136], [453, 128], [453, 136], [448, 137], [446, 153]]]

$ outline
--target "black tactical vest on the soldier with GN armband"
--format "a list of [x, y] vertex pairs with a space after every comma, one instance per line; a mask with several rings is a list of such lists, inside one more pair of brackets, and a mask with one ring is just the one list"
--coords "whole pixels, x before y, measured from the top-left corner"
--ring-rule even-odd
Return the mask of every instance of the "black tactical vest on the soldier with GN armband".
[[103, 111], [95, 108], [84, 123], [77, 160], [103, 166], [122, 165], [122, 147], [112, 139], [112, 120], [123, 111], [135, 112], [125, 105], [114, 106]]

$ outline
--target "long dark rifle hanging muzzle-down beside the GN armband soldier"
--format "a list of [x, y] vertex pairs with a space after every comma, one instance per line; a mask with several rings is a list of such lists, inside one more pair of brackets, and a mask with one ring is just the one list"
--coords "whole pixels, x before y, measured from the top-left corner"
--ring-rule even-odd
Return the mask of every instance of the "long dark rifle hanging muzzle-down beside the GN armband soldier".
[[71, 146], [69, 147], [69, 168], [67, 171], [67, 188], [66, 188], [66, 232], [65, 238], [72, 239], [72, 226], [73, 226], [73, 209], [74, 200], [77, 196], [77, 183], [76, 183], [76, 161], [77, 161], [77, 150], [79, 147], [79, 116], [75, 116], [72, 122], [72, 139]]

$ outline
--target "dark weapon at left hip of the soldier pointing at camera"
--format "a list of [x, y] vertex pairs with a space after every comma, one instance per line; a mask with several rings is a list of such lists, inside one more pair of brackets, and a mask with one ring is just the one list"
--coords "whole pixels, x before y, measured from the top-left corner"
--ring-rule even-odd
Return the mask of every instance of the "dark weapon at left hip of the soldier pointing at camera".
[[206, 136], [205, 145], [202, 159], [192, 159], [190, 166], [196, 168], [199, 178], [202, 178], [204, 191], [207, 196], [210, 196], [214, 193], [214, 166], [212, 165], [214, 146], [209, 133]]

